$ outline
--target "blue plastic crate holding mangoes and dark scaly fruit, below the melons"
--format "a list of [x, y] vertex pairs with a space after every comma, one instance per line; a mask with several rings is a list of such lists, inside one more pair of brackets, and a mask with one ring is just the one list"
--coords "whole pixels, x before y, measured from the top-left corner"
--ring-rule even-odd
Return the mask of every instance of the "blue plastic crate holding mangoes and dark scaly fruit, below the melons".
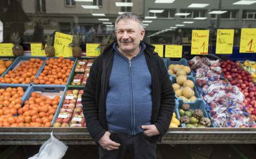
[[[183, 102], [182, 99], [178, 99], [177, 101], [178, 102], [176, 102], [176, 106], [175, 107], [177, 109], [176, 111], [179, 112], [178, 109], [181, 108], [181, 105], [183, 103], [187, 103], [187, 102]], [[205, 101], [203, 99], [197, 99], [195, 102], [189, 103], [189, 105], [190, 105], [190, 109], [191, 110], [201, 109], [204, 112], [204, 117], [205, 118], [209, 118], [211, 120], [211, 118], [208, 116], [208, 113], [206, 112], [206, 103], [205, 103]], [[181, 127], [186, 127], [186, 125], [184, 123], [181, 123]], [[212, 123], [211, 127], [216, 127], [216, 126], [214, 125], [214, 123]]]

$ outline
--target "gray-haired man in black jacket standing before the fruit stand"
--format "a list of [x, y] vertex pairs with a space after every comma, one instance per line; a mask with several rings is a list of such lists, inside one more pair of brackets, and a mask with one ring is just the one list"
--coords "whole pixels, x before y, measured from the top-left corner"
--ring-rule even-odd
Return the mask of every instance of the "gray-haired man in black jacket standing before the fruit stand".
[[104, 159], [156, 158], [157, 141], [170, 125], [175, 93], [155, 47], [142, 41], [141, 18], [124, 13], [115, 22], [117, 41], [90, 69], [82, 104], [90, 136]]

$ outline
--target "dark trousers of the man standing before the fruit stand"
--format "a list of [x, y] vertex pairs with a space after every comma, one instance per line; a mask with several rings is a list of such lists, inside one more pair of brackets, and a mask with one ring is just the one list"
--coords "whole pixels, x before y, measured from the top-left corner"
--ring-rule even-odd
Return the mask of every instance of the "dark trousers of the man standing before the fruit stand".
[[136, 135], [111, 133], [109, 137], [121, 146], [109, 151], [99, 146], [100, 159], [122, 159], [127, 148], [134, 159], [156, 159], [157, 143], [152, 142], [152, 137], [148, 137], [144, 132]]

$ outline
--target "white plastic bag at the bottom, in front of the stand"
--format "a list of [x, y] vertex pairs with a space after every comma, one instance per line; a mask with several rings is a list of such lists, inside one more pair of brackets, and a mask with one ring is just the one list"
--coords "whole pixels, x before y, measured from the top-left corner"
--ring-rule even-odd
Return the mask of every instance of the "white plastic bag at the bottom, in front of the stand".
[[61, 159], [68, 147], [51, 133], [51, 137], [42, 144], [39, 152], [29, 159]]

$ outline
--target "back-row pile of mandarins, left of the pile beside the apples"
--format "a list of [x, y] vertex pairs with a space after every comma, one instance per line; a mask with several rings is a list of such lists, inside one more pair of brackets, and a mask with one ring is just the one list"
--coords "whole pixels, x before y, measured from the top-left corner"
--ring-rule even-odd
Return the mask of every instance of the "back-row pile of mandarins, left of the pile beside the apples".
[[44, 63], [39, 58], [31, 58], [12, 71], [8, 71], [4, 77], [0, 77], [0, 83], [30, 84], [36, 79], [35, 75]]

